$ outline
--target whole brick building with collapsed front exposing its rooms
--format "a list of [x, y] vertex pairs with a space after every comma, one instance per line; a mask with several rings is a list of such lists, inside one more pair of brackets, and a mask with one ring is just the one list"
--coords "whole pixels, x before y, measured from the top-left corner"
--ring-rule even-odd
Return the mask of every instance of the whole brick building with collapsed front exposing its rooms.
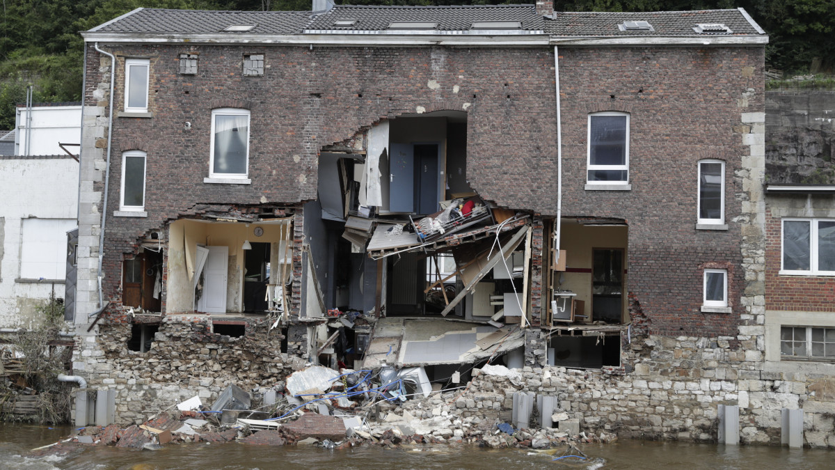
[[767, 36], [742, 9], [315, 0], [83, 36], [74, 364], [120, 397], [216, 396], [224, 349], [250, 389], [267, 355], [630, 375], [636, 339], [762, 324]]

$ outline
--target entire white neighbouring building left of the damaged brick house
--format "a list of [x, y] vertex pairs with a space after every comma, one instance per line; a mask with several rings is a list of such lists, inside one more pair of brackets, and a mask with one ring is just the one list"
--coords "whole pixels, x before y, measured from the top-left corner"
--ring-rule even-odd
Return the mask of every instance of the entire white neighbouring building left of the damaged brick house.
[[78, 225], [78, 161], [59, 144], [78, 153], [81, 106], [33, 106], [32, 120], [21, 107], [17, 123], [15, 155], [0, 156], [0, 328], [31, 327], [50, 295], [64, 298]]

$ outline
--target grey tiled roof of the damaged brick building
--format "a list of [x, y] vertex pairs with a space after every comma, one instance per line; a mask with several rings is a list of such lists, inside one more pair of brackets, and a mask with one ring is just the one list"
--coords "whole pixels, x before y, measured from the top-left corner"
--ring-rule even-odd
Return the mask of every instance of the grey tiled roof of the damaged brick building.
[[[356, 19], [335, 26], [337, 19]], [[724, 23], [733, 34], [757, 34], [739, 10], [655, 13], [557, 12], [542, 18], [534, 5], [472, 5], [449, 7], [382, 7], [340, 5], [330, 12], [227, 12], [144, 8], [105, 23], [99, 33], [221, 33], [231, 25], [255, 24], [250, 34], [294, 34], [305, 30], [382, 31], [392, 21], [438, 22], [438, 31], [469, 30], [474, 21], [519, 21], [524, 31], [544, 30], [557, 37], [690, 36], [698, 23]], [[647, 21], [653, 31], [620, 31], [625, 21]], [[237, 33], [229, 33], [237, 34]]]

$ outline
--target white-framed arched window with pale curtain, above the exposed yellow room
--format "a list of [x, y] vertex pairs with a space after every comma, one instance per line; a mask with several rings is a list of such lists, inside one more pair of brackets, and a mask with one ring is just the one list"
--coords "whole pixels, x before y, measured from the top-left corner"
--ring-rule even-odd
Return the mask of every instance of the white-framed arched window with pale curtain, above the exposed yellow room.
[[210, 147], [210, 177], [246, 178], [250, 159], [250, 111], [213, 110]]

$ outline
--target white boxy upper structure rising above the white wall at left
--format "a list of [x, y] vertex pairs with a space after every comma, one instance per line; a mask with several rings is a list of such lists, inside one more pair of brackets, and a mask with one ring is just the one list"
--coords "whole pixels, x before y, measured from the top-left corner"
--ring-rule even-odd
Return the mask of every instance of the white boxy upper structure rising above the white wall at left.
[[[15, 117], [15, 155], [66, 155], [58, 144], [79, 144], [81, 139], [81, 105], [78, 106], [34, 106], [32, 108], [32, 129], [26, 126], [28, 110], [18, 108]], [[28, 154], [26, 141], [31, 140]], [[68, 146], [73, 155], [78, 155], [78, 146]]]

